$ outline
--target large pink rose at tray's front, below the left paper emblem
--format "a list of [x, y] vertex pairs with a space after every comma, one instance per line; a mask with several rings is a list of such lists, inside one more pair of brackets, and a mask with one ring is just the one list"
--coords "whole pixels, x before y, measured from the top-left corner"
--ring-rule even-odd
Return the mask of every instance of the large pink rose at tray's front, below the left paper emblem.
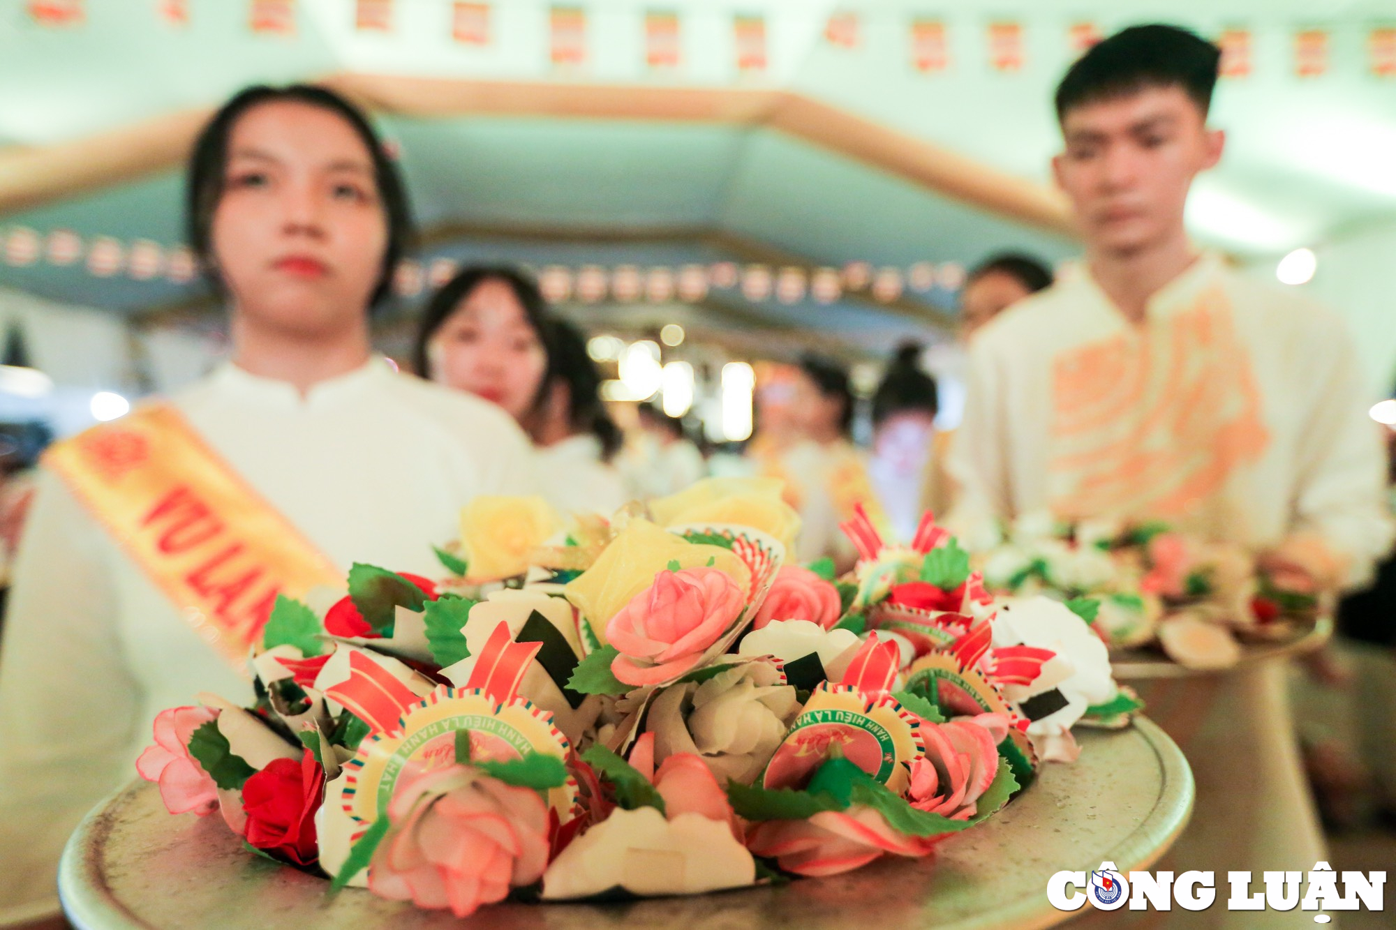
[[547, 804], [468, 765], [406, 776], [388, 804], [392, 827], [373, 855], [369, 890], [466, 917], [530, 885], [547, 867]]

